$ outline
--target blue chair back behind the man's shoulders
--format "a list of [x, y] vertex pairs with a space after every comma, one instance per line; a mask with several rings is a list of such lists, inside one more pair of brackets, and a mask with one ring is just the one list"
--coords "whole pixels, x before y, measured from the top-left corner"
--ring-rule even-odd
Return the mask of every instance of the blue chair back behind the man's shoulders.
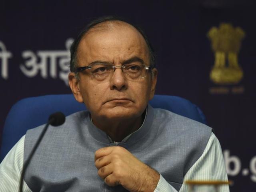
[[[206, 124], [202, 111], [184, 98], [155, 95], [150, 105]], [[78, 103], [72, 94], [45, 95], [20, 100], [12, 106], [4, 124], [0, 162], [28, 129], [45, 124], [50, 114], [61, 111], [68, 116], [81, 110], [86, 110], [85, 105]]]

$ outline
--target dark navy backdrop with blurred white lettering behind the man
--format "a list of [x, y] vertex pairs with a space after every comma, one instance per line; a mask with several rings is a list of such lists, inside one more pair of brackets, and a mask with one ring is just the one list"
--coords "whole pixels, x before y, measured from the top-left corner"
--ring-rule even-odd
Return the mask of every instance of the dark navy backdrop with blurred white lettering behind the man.
[[[240, 0], [20, 1], [0, 5], [0, 129], [18, 100], [71, 93], [68, 48], [98, 16], [117, 15], [141, 26], [156, 50], [156, 94], [197, 104], [222, 145], [232, 192], [256, 188], [255, 5]], [[238, 54], [243, 78], [234, 84], [210, 79], [214, 52], [208, 31], [222, 22], [245, 37]], [[1, 132], [0, 131], [0, 132]]]

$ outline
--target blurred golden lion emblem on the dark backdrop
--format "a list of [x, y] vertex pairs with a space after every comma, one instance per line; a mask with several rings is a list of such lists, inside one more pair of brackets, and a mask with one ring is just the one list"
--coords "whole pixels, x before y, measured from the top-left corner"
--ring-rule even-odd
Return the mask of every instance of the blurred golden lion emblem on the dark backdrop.
[[243, 78], [243, 70], [238, 64], [238, 52], [245, 36], [240, 28], [222, 23], [219, 28], [212, 27], [208, 34], [212, 41], [215, 62], [210, 79], [216, 84], [237, 84]]

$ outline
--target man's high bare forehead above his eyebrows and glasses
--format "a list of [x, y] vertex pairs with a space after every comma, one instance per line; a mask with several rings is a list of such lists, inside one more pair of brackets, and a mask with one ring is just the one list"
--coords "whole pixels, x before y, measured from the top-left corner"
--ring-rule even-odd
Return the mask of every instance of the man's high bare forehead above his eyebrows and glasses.
[[78, 63], [95, 60], [122, 62], [134, 56], [149, 62], [148, 47], [140, 32], [129, 24], [102, 26], [89, 30], [78, 45]]

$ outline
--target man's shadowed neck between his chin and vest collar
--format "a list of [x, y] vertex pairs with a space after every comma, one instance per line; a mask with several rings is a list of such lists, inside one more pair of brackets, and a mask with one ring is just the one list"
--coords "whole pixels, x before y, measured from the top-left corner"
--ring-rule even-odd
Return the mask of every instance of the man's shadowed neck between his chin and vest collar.
[[142, 125], [145, 112], [138, 118], [122, 119], [122, 120], [109, 120], [109, 119], [98, 119], [92, 117], [93, 124], [99, 129], [103, 130], [110, 136], [112, 141], [121, 142], [126, 136], [135, 132]]

